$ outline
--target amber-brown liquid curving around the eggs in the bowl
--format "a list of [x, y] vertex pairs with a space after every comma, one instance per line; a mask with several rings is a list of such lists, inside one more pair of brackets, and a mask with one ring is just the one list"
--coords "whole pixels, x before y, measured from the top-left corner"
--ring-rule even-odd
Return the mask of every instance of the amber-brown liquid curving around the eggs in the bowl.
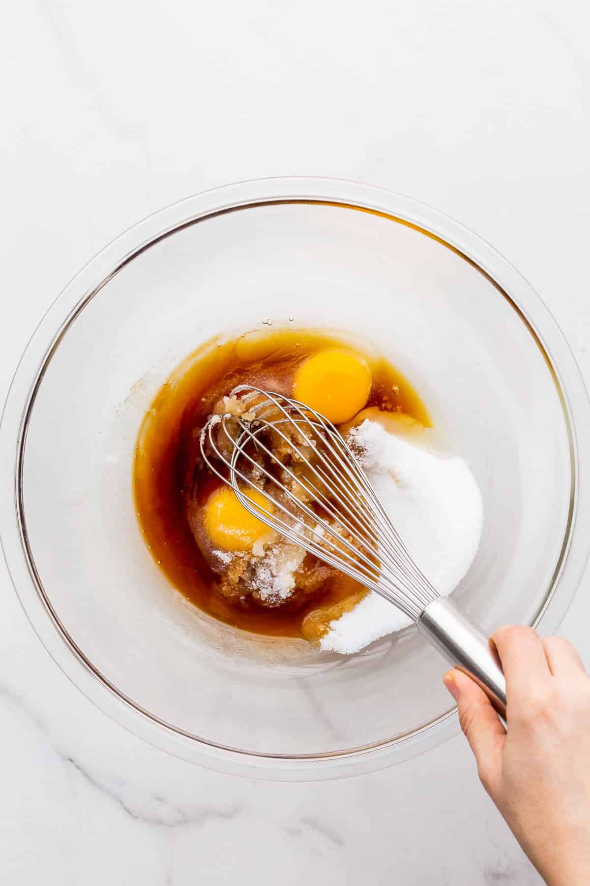
[[[133, 488], [149, 553], [172, 586], [195, 606], [249, 632], [316, 639], [314, 624], [319, 636], [326, 612], [337, 618], [366, 593], [352, 579], [336, 573], [303, 602], [295, 596], [272, 609], [249, 596], [220, 595], [218, 575], [199, 549], [187, 517], [188, 497], [204, 502], [221, 485], [211, 471], [195, 470], [200, 430], [218, 400], [241, 384], [289, 396], [298, 367], [311, 354], [327, 348], [352, 349], [342, 338], [312, 330], [246, 333], [224, 343], [212, 340], [172, 372], [140, 429]], [[371, 369], [366, 407], [403, 413], [428, 426], [424, 403], [407, 379], [379, 355], [357, 345], [354, 350]]]

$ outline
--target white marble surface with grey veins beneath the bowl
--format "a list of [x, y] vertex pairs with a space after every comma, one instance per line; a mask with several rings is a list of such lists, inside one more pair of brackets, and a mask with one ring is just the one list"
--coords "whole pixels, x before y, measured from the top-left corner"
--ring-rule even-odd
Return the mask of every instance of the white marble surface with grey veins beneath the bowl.
[[[3, 399], [34, 324], [105, 242], [195, 191], [289, 174], [379, 183], [477, 230], [590, 379], [589, 25], [579, 0], [12, 4]], [[539, 882], [461, 737], [346, 781], [210, 773], [106, 719], [42, 649], [4, 563], [0, 587], [2, 882]], [[589, 661], [587, 587], [563, 633]]]

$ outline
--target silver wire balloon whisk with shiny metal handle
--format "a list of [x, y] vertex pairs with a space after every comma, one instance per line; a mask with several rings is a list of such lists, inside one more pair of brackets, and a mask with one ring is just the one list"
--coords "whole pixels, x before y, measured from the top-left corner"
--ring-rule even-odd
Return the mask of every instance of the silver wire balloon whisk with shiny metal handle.
[[506, 684], [493, 642], [414, 562], [334, 425], [298, 400], [250, 385], [236, 387], [228, 406], [203, 428], [201, 453], [243, 507], [397, 606], [505, 716]]

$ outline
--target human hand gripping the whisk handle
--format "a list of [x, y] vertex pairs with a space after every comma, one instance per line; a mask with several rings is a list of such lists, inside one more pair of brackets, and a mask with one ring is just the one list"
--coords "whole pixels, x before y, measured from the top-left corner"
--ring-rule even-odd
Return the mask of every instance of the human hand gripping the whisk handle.
[[445, 686], [479, 778], [548, 886], [590, 883], [590, 679], [567, 640], [509, 626], [492, 639], [506, 676], [508, 732], [486, 694], [452, 670]]

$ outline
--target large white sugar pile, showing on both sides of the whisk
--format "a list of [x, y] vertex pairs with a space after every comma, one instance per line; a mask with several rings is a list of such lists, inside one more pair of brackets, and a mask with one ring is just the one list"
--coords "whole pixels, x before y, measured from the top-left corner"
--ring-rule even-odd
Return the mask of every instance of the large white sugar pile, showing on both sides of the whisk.
[[[441, 595], [463, 579], [479, 547], [483, 504], [464, 460], [430, 445], [432, 431], [398, 436], [365, 419], [349, 441], [411, 556]], [[411, 624], [402, 610], [371, 592], [334, 620], [320, 645], [353, 653]]]

